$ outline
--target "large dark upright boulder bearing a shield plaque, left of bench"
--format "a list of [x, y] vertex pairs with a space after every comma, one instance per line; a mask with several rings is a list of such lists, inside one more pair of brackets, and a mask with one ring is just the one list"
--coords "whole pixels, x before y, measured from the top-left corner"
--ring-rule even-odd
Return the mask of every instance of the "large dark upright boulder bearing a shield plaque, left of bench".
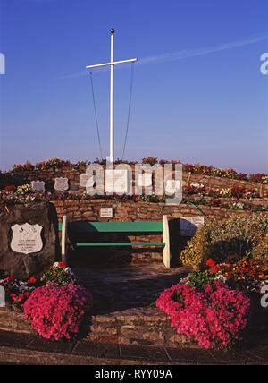
[[14, 205], [9, 212], [0, 210], [0, 274], [4, 271], [20, 279], [42, 277], [60, 252], [57, 230], [52, 203]]

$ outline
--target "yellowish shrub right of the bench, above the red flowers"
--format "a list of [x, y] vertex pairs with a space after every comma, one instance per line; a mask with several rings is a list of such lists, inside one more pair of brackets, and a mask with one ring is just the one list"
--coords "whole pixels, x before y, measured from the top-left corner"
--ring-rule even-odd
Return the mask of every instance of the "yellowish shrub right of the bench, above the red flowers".
[[[236, 260], [246, 256], [257, 258], [261, 254], [257, 249], [260, 243], [264, 243], [267, 231], [268, 217], [264, 214], [231, 216], [223, 221], [206, 222], [181, 251], [180, 261], [184, 266], [204, 268], [210, 258], [215, 263], [224, 262], [230, 255]], [[267, 259], [266, 250], [262, 256]]]

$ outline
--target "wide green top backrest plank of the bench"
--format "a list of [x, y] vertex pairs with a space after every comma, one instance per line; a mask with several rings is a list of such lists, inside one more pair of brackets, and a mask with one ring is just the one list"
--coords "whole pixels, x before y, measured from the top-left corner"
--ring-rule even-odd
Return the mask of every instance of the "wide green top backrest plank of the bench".
[[[133, 233], [133, 232], [163, 232], [162, 221], [150, 222], [69, 222], [68, 228], [72, 233]], [[62, 224], [59, 224], [62, 231]]]

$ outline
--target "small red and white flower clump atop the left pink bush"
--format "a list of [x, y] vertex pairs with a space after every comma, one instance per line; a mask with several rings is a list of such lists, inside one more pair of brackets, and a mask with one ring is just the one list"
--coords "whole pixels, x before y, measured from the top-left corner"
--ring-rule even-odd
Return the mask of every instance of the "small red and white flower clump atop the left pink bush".
[[48, 285], [71, 285], [75, 282], [75, 277], [71, 268], [67, 268], [65, 262], [55, 262], [54, 265], [41, 277], [41, 282]]

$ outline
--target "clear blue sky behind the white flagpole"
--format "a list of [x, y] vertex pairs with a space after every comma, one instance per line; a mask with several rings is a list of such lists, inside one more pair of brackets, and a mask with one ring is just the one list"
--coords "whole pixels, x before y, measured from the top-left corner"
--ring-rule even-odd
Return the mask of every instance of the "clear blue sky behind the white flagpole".
[[[268, 0], [0, 0], [2, 170], [100, 157], [85, 67], [137, 57], [125, 158], [268, 173]], [[131, 64], [114, 70], [115, 157]], [[109, 71], [93, 81], [109, 155]]]

